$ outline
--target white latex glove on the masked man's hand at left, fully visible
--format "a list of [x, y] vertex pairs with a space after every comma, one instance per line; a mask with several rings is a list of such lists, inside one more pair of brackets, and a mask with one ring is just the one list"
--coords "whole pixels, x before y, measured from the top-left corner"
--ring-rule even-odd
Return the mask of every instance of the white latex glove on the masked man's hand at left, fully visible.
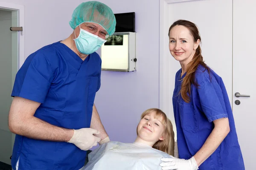
[[100, 138], [95, 135], [99, 135], [99, 131], [92, 128], [81, 128], [74, 130], [74, 134], [68, 143], [73, 143], [81, 150], [89, 150], [93, 146], [97, 146]]

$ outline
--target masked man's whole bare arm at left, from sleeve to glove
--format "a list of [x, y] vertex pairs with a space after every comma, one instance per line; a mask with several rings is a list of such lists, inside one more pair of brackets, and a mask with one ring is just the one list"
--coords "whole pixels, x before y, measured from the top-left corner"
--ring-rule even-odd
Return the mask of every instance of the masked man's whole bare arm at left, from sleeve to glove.
[[74, 130], [57, 127], [36, 118], [34, 114], [39, 105], [32, 100], [15, 97], [9, 111], [11, 132], [31, 139], [68, 142]]

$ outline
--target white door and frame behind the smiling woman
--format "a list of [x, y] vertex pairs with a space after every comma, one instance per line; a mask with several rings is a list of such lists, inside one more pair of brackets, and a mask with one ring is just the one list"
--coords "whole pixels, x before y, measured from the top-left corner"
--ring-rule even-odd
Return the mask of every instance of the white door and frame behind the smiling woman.
[[[174, 123], [172, 93], [180, 68], [169, 53], [168, 29], [178, 19], [199, 27], [205, 62], [224, 80], [233, 107], [246, 170], [255, 169], [256, 2], [254, 0], [160, 1], [160, 109]], [[235, 93], [250, 95], [236, 97]], [[240, 104], [236, 105], [239, 100]]]

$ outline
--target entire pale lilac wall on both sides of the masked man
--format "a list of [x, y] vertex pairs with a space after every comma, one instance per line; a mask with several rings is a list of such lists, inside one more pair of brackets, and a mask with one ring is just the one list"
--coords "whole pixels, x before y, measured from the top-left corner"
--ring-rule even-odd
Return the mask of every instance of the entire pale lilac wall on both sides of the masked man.
[[[25, 56], [67, 38], [73, 10], [83, 0], [2, 0], [25, 6]], [[99, 0], [114, 13], [136, 13], [136, 72], [102, 71], [95, 104], [113, 141], [134, 142], [140, 115], [159, 107], [159, 0]]]

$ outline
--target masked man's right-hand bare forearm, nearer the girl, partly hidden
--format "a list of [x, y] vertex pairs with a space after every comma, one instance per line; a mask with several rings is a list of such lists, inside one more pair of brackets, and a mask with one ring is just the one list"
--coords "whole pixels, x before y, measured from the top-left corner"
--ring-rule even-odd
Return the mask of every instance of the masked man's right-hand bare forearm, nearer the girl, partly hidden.
[[95, 136], [100, 137], [101, 140], [108, 137], [108, 134], [106, 133], [106, 130], [105, 130], [104, 126], [102, 125], [102, 122], [99, 117], [99, 113], [98, 113], [95, 105], [93, 105], [93, 115], [92, 115], [90, 128], [93, 128], [93, 129], [96, 129], [99, 131], [99, 135], [95, 135]]

